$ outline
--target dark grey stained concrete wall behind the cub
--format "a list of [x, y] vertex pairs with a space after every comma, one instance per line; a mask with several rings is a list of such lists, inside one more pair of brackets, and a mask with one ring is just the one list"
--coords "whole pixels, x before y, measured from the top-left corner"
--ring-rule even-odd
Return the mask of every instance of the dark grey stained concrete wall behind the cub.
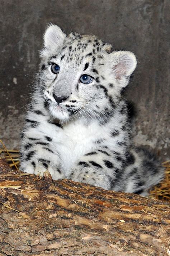
[[18, 147], [38, 50], [51, 22], [136, 54], [138, 66], [127, 89], [137, 111], [135, 143], [167, 156], [169, 0], [0, 0], [0, 7], [0, 138], [9, 148]]

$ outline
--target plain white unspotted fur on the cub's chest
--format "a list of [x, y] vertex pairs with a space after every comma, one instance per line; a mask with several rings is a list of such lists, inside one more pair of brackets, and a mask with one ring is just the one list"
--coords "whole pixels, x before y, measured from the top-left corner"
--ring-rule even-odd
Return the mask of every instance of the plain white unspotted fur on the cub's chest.
[[94, 150], [94, 142], [102, 139], [103, 134], [103, 127], [95, 121], [90, 125], [76, 121], [60, 129], [53, 137], [53, 143], [59, 152], [63, 169], [70, 169], [82, 155]]

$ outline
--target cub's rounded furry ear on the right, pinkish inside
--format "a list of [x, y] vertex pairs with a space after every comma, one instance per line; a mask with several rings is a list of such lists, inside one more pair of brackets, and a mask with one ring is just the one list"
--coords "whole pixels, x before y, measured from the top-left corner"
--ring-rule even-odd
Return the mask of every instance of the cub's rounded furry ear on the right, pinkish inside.
[[113, 51], [109, 54], [115, 81], [121, 87], [126, 87], [129, 77], [136, 68], [136, 57], [130, 51]]

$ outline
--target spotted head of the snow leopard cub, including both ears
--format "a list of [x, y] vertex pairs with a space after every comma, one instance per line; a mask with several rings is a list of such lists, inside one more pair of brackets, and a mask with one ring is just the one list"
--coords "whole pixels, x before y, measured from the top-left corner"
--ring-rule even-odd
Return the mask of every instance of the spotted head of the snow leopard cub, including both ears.
[[41, 51], [40, 95], [50, 115], [61, 122], [101, 118], [119, 103], [135, 67], [129, 51], [113, 51], [94, 35], [66, 35], [50, 25]]

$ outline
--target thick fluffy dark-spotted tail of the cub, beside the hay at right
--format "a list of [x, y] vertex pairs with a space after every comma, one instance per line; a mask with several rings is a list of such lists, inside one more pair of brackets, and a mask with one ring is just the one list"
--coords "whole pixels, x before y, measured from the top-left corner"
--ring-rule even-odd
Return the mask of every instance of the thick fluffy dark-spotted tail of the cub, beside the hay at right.
[[159, 158], [146, 148], [137, 147], [131, 152], [135, 161], [126, 168], [127, 187], [125, 190], [147, 196], [148, 190], [164, 179], [165, 168], [161, 166]]

